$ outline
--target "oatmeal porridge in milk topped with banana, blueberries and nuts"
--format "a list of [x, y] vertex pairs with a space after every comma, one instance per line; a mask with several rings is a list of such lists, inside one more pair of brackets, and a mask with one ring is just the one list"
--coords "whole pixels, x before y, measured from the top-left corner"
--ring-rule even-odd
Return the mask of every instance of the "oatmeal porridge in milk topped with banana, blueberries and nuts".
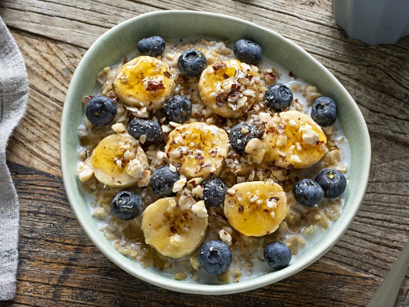
[[291, 265], [337, 220], [350, 150], [335, 102], [257, 43], [152, 36], [96, 79], [77, 174], [141, 266], [238, 282]]

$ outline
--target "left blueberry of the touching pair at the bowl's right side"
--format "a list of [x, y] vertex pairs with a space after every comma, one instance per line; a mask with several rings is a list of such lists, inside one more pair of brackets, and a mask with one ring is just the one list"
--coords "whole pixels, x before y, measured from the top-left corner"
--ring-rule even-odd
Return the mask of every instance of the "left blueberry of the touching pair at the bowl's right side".
[[313, 207], [324, 198], [324, 190], [311, 179], [302, 179], [293, 188], [296, 201], [305, 207]]

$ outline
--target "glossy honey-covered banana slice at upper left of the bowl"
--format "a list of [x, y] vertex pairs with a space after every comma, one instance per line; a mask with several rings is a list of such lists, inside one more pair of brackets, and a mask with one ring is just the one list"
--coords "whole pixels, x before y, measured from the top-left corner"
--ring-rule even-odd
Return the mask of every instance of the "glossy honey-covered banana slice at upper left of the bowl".
[[114, 84], [122, 102], [148, 110], [162, 107], [175, 87], [168, 65], [150, 56], [140, 56], [122, 65]]

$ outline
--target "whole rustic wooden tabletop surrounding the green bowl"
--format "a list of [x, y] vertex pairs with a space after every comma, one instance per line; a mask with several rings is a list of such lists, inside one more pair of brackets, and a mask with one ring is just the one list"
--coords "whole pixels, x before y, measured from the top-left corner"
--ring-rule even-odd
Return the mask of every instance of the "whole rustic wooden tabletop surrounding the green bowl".
[[[160, 9], [241, 17], [297, 42], [342, 82], [370, 130], [370, 182], [351, 227], [304, 271], [248, 293], [203, 297], [151, 286], [113, 265], [67, 203], [59, 124], [86, 49], [121, 21]], [[367, 46], [333, 20], [329, 0], [3, 0], [0, 15], [25, 57], [30, 100], [8, 161], [20, 200], [17, 293], [2, 306], [364, 306], [409, 237], [409, 37]], [[409, 305], [409, 273], [396, 306]]]

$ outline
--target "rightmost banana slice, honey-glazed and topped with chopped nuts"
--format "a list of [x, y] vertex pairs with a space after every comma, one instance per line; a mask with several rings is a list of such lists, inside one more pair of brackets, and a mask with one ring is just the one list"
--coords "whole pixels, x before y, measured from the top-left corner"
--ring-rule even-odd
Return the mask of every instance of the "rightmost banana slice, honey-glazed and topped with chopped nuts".
[[263, 146], [277, 166], [306, 168], [324, 156], [327, 138], [311, 117], [298, 111], [276, 113], [267, 123]]

